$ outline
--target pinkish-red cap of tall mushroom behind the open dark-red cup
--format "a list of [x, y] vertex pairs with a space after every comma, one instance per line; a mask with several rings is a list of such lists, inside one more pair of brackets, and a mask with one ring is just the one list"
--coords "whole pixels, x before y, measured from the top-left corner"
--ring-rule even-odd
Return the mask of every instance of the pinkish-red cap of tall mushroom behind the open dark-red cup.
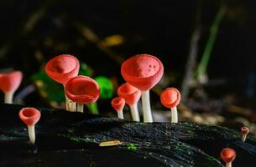
[[76, 57], [63, 54], [51, 58], [45, 65], [45, 72], [50, 78], [58, 83], [65, 84], [70, 78], [77, 76], [79, 72], [79, 61]]

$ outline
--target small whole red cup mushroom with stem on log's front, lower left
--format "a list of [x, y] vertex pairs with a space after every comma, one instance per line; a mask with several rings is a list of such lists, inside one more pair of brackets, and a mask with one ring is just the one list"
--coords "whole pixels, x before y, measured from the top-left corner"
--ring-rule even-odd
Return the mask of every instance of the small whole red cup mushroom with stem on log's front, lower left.
[[24, 108], [19, 111], [18, 116], [25, 124], [28, 125], [29, 140], [32, 144], [34, 144], [34, 141], [35, 141], [34, 124], [36, 124], [39, 121], [41, 117], [41, 113], [39, 112], [38, 109]]

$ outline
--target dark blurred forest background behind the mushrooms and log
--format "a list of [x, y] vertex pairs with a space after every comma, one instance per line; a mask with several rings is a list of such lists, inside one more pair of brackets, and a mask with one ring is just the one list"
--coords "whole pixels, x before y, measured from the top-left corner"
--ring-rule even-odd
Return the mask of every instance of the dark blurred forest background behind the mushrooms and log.
[[0, 8], [0, 72], [24, 73], [17, 104], [64, 107], [63, 88], [44, 73], [44, 64], [69, 53], [102, 89], [86, 110], [115, 116], [110, 101], [124, 82], [120, 65], [149, 53], [165, 66], [151, 91], [154, 120], [170, 120], [159, 94], [176, 87], [180, 121], [246, 125], [256, 134], [254, 0], [2, 0]]

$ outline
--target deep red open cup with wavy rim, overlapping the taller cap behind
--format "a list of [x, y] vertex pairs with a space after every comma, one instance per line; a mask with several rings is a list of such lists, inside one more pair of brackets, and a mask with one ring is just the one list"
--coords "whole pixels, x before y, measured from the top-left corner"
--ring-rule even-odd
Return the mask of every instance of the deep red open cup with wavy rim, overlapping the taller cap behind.
[[76, 76], [65, 84], [65, 94], [78, 104], [88, 104], [100, 97], [98, 83], [86, 76]]

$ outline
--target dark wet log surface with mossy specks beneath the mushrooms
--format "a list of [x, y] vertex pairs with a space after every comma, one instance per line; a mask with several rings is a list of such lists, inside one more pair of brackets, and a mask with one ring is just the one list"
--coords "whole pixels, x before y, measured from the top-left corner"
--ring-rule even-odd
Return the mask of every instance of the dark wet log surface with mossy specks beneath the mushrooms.
[[[134, 123], [100, 115], [41, 109], [36, 143], [18, 118], [23, 106], [0, 105], [0, 166], [223, 166], [224, 147], [237, 151], [233, 166], [256, 164], [256, 139], [205, 124]], [[108, 140], [122, 144], [100, 147]]]

